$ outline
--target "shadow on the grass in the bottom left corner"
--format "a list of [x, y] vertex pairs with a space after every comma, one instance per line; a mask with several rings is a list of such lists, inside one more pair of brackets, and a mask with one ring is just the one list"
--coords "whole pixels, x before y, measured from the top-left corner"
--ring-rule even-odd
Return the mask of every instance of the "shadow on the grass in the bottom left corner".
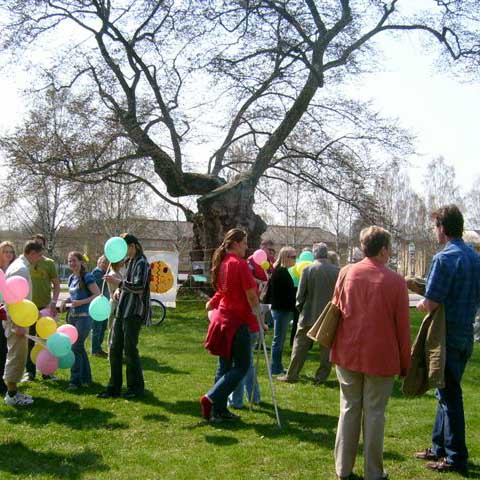
[[86, 448], [81, 453], [36, 451], [22, 442], [0, 443], [0, 472], [32, 478], [45, 474], [56, 478], [80, 479], [87, 472], [107, 471], [99, 453]]

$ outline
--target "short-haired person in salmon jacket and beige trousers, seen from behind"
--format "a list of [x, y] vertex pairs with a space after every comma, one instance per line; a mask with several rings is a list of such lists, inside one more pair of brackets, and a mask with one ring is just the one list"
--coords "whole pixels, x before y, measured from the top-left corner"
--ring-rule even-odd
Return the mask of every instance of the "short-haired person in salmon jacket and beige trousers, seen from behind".
[[330, 360], [340, 383], [335, 470], [352, 473], [363, 430], [364, 479], [388, 478], [383, 469], [385, 409], [395, 375], [410, 368], [410, 312], [405, 280], [387, 265], [391, 236], [372, 226], [360, 233], [365, 258], [344, 267], [333, 302], [341, 319]]

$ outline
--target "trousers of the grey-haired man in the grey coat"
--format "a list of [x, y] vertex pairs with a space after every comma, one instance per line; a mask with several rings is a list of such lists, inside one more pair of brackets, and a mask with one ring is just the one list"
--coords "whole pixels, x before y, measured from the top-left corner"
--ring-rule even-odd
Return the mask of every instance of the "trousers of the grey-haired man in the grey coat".
[[[297, 332], [295, 333], [295, 338], [293, 340], [292, 347], [292, 357], [290, 359], [290, 365], [287, 370], [287, 378], [292, 381], [297, 381], [300, 371], [303, 368], [305, 360], [307, 359], [308, 351], [312, 345], [312, 340], [307, 337], [307, 332], [312, 328], [311, 326], [298, 327]], [[315, 372], [315, 381], [323, 383], [327, 380], [330, 375], [330, 370], [332, 369], [332, 364], [330, 363], [330, 349], [323, 347], [319, 344], [320, 351], [320, 366]]]

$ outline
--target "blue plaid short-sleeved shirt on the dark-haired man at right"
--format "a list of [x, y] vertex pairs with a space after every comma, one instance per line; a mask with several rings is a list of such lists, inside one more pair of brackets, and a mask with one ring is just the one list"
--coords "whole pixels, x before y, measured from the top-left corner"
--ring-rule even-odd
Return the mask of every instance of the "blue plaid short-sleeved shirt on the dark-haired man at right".
[[433, 257], [425, 297], [445, 307], [447, 346], [464, 347], [473, 341], [480, 304], [480, 257], [463, 240], [450, 240]]

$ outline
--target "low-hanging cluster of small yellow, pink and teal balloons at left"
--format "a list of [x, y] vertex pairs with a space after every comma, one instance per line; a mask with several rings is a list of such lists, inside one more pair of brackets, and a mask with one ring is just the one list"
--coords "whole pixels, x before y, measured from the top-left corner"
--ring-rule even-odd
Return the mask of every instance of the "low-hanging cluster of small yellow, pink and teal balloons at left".
[[68, 324], [57, 328], [51, 317], [40, 317], [35, 328], [37, 335], [44, 340], [37, 342], [30, 352], [38, 370], [44, 375], [51, 375], [57, 368], [71, 368], [75, 362], [72, 345], [78, 339], [77, 329]]

